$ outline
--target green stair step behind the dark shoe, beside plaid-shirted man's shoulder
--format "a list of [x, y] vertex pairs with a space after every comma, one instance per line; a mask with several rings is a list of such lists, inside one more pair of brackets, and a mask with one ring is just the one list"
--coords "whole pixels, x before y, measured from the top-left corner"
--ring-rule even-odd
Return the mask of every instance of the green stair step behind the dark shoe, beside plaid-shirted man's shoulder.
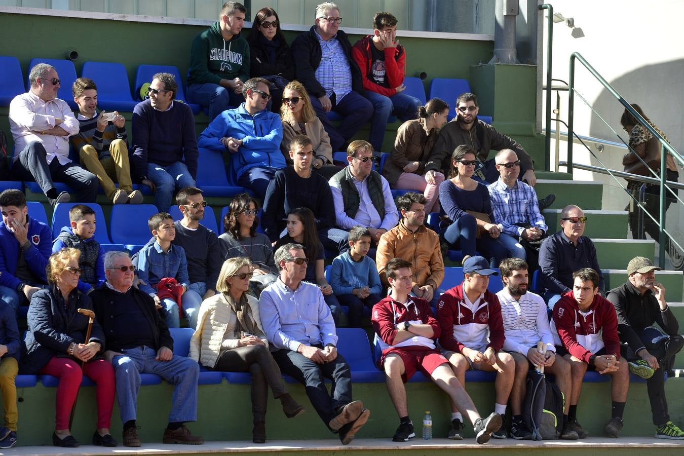
[[603, 201], [603, 184], [592, 180], [540, 179], [534, 187], [538, 198], [554, 193], [555, 201], [549, 209], [563, 209], [577, 204], [584, 210], [600, 210]]

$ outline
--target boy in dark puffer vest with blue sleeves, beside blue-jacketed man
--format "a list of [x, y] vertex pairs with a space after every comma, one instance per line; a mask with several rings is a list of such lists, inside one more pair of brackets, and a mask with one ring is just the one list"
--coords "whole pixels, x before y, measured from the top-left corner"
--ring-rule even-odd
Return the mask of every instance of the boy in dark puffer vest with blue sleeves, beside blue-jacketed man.
[[69, 210], [69, 224], [60, 231], [52, 245], [52, 252], [64, 247], [81, 251], [79, 267], [81, 276], [78, 289], [90, 293], [96, 286], [105, 283], [105, 251], [95, 240], [95, 211], [86, 204], [76, 204]]

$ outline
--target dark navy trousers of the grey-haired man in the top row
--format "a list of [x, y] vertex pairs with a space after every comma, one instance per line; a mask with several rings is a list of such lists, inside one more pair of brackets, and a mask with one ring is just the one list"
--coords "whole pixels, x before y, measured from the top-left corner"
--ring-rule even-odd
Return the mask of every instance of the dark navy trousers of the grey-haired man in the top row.
[[345, 142], [354, 136], [373, 115], [373, 105], [371, 105], [371, 102], [352, 90], [352, 92], [346, 94], [337, 103], [334, 97], [330, 99], [332, 102], [331, 110], [343, 117], [337, 128], [335, 128], [328, 119], [326, 111], [324, 111], [318, 98], [315, 96], [309, 96], [308, 98], [311, 99], [311, 106], [330, 137], [330, 146], [332, 146], [333, 152], [343, 150], [342, 146], [344, 146]]

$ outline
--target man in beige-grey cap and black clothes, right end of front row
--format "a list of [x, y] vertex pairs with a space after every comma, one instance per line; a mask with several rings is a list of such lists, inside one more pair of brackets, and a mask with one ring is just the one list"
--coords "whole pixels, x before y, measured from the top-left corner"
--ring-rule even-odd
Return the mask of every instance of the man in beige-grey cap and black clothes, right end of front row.
[[[679, 323], [665, 300], [665, 287], [655, 281], [655, 271], [660, 268], [648, 258], [632, 258], [627, 265], [627, 282], [609, 291], [606, 297], [618, 314], [622, 356], [629, 361], [629, 371], [646, 379], [655, 437], [684, 440], [684, 431], [668, 415], [664, 375], [672, 368], [684, 338], [679, 335]], [[661, 334], [654, 323], [666, 334]], [[657, 343], [653, 342], [653, 332], [660, 336]]]

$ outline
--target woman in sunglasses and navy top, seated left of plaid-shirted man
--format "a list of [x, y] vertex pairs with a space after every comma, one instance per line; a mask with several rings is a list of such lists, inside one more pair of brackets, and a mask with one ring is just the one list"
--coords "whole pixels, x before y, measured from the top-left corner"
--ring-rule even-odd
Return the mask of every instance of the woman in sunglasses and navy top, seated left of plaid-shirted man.
[[490, 267], [498, 267], [506, 256], [499, 237], [508, 234], [494, 221], [487, 186], [473, 179], [476, 165], [473, 146], [463, 144], [453, 151], [449, 179], [439, 186], [439, 201], [449, 218], [442, 224], [451, 224], [440, 228], [449, 247], [460, 248], [464, 263], [477, 250]]

